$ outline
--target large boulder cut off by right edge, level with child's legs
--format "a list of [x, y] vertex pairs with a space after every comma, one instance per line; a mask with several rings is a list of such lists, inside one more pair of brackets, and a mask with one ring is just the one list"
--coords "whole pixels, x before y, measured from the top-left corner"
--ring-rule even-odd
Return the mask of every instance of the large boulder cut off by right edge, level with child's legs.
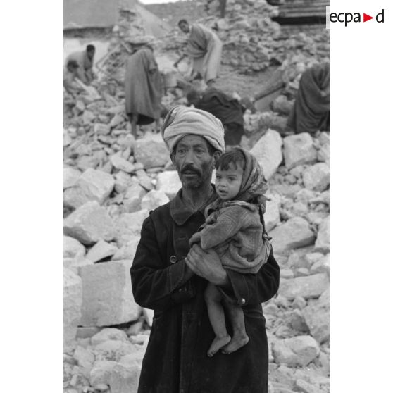
[[318, 301], [303, 310], [304, 320], [311, 335], [320, 343], [330, 340], [330, 288], [320, 295]]

